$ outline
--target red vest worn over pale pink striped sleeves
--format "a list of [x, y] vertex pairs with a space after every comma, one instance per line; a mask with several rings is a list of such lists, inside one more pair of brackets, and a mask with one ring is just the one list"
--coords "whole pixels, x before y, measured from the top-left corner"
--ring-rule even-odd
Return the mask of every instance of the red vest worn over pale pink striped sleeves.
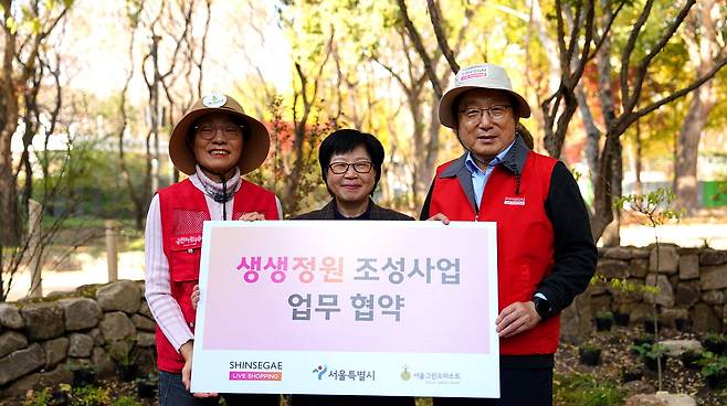
[[[265, 220], [278, 220], [275, 195], [245, 180], [234, 195], [232, 220], [259, 212]], [[199, 279], [202, 225], [210, 220], [204, 194], [187, 179], [159, 191], [161, 238], [169, 261], [171, 296], [177, 300], [185, 321], [194, 332], [191, 293]], [[179, 373], [185, 360], [157, 327], [157, 364], [160, 371]]]

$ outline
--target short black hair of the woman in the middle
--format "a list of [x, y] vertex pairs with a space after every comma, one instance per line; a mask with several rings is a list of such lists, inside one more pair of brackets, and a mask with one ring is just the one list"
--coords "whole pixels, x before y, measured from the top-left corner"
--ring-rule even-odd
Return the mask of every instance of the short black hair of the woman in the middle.
[[[373, 180], [373, 189], [371, 194], [376, 191], [376, 186], [381, 179], [381, 164], [383, 163], [383, 146], [375, 136], [359, 130], [344, 128], [331, 132], [326, 139], [320, 142], [318, 147], [318, 162], [320, 163], [320, 175], [324, 183], [327, 184], [328, 165], [330, 158], [336, 153], [347, 153], [362, 146], [371, 158], [373, 163], [373, 171], [376, 178]], [[330, 191], [328, 191], [330, 193]], [[331, 194], [333, 195], [333, 194]]]

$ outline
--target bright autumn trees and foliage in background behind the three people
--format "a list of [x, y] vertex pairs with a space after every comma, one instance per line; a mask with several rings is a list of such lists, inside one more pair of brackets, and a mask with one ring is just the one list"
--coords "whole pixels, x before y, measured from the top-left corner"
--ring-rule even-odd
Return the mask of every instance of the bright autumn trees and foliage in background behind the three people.
[[180, 179], [169, 132], [210, 92], [267, 125], [249, 178], [286, 216], [329, 199], [317, 147], [345, 127], [384, 145], [377, 201], [415, 215], [462, 153], [438, 100], [483, 62], [528, 99], [521, 124], [576, 173], [601, 244], [619, 245], [624, 193], [727, 204], [724, 0], [0, 0], [0, 301], [105, 220], [141, 248], [151, 196]]

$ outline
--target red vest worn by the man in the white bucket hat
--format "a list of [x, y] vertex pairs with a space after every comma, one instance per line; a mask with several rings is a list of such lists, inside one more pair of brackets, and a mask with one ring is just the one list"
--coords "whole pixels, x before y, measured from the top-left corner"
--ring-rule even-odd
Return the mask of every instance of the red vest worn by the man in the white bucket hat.
[[[538, 282], [552, 269], [552, 225], [544, 204], [556, 162], [530, 151], [518, 194], [515, 174], [497, 165], [487, 180], [478, 213], [456, 177], [440, 178], [452, 161], [436, 169], [426, 217], [443, 213], [452, 221], [497, 222], [499, 311], [513, 302], [529, 301]], [[555, 316], [531, 330], [501, 339], [499, 352], [504, 355], [552, 354], [558, 348], [559, 329], [560, 318]]]

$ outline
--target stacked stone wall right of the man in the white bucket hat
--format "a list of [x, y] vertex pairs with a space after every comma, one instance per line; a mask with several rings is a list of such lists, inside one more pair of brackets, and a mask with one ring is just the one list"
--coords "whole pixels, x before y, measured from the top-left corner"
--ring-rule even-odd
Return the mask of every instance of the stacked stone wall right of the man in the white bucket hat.
[[[631, 314], [632, 322], [653, 313], [656, 301], [661, 320], [691, 320], [695, 332], [720, 332], [727, 318], [727, 252], [655, 245], [646, 248], [600, 248], [598, 273], [636, 287], [631, 291], [599, 281], [587, 290], [592, 312], [611, 310]], [[656, 286], [656, 295], [640, 287]]]

